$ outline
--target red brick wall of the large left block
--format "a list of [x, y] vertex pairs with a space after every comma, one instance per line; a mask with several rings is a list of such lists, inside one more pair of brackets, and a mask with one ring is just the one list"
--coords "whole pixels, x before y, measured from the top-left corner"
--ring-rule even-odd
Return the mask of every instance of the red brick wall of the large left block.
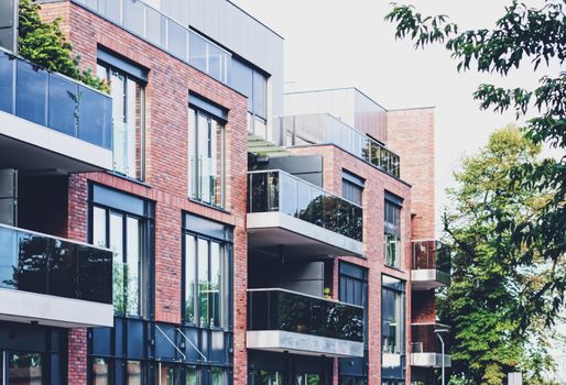
[[[105, 46], [149, 69], [146, 87], [145, 182], [132, 183], [109, 174], [73, 176], [69, 182], [68, 237], [85, 240], [87, 234], [87, 180], [97, 182], [155, 202], [155, 318], [181, 322], [181, 218], [193, 212], [235, 226], [235, 384], [246, 384], [246, 287], [247, 287], [247, 100], [225, 85], [189, 67], [165, 52], [134, 37], [79, 6], [68, 1], [43, 6], [45, 19], [64, 18], [74, 53], [83, 68], [96, 68], [97, 46]], [[187, 199], [188, 196], [188, 97], [196, 92], [227, 108], [226, 211]], [[70, 344], [73, 342], [73, 344]], [[72, 351], [86, 358], [86, 340], [69, 341]], [[74, 353], [73, 353], [74, 354]], [[69, 359], [69, 381], [85, 382], [86, 367]], [[80, 378], [79, 378], [80, 377]]]

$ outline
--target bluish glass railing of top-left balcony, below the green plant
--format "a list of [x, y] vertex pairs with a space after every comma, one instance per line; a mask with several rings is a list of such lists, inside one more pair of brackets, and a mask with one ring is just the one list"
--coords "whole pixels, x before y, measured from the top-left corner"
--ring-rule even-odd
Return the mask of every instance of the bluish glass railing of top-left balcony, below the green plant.
[[0, 50], [0, 110], [111, 150], [112, 100]]

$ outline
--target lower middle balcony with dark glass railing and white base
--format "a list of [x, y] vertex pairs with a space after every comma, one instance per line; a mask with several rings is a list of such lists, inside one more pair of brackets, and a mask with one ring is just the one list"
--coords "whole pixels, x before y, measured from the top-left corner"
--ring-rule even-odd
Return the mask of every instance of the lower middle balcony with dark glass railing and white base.
[[363, 356], [363, 309], [279, 288], [248, 290], [248, 349]]

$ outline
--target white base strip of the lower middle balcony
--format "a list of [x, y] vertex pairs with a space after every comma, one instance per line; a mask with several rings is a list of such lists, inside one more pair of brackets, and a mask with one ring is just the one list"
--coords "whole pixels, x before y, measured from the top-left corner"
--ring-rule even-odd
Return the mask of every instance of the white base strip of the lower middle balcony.
[[253, 330], [247, 333], [248, 349], [328, 358], [363, 356], [363, 342], [281, 330]]

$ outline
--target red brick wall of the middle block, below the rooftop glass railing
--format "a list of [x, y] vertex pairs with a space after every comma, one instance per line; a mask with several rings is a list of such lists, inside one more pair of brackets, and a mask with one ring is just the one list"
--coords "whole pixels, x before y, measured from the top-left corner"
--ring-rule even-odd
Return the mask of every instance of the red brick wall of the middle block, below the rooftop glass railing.
[[[393, 277], [409, 282], [411, 268], [411, 187], [368, 163], [350, 155], [347, 152], [333, 145], [297, 147], [291, 150], [295, 154], [309, 155], [320, 154], [324, 156], [324, 188], [338, 196], [342, 194], [342, 168], [366, 179], [363, 190], [363, 254], [364, 257], [339, 257], [339, 260], [367, 267], [368, 274], [368, 349], [369, 349], [369, 373], [370, 385], [381, 384], [381, 275], [388, 274]], [[388, 190], [403, 198], [402, 210], [402, 242], [404, 257], [402, 268], [394, 270], [384, 266], [383, 256], [383, 208], [384, 191]], [[335, 271], [335, 287], [338, 287], [338, 274]], [[335, 289], [335, 298], [338, 293]], [[411, 339], [411, 288], [406, 286], [406, 324], [407, 343], [405, 351], [410, 350]], [[411, 375], [407, 367], [407, 384]]]

